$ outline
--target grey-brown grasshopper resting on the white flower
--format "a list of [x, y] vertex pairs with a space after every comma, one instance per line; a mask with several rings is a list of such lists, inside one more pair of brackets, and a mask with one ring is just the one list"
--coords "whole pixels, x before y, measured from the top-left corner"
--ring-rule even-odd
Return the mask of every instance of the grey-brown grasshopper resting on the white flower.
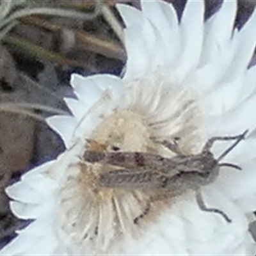
[[[119, 166], [120, 169], [100, 174], [100, 186], [122, 189], [164, 189], [170, 195], [182, 195], [186, 191], [196, 191], [196, 202], [202, 211], [216, 212], [227, 222], [232, 220], [220, 209], [208, 208], [204, 204], [200, 190], [202, 186], [211, 184], [218, 177], [221, 166], [241, 170], [232, 163], [220, 163], [236, 145], [245, 138], [248, 130], [237, 136], [216, 136], [210, 138], [200, 154], [183, 155], [179, 148], [168, 141], [163, 145], [179, 154], [175, 157], [162, 157], [145, 152], [98, 152], [86, 150], [83, 159], [89, 163], [103, 163]], [[211, 147], [216, 141], [234, 140], [217, 159], [214, 158]], [[137, 223], [149, 211], [149, 207], [138, 216]]]

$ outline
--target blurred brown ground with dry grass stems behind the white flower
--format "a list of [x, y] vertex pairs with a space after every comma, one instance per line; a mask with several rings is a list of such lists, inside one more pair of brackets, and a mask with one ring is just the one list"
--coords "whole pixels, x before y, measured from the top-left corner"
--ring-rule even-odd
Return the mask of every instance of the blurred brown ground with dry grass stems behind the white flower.
[[[168, 2], [180, 18], [186, 0]], [[238, 29], [255, 2], [238, 1]], [[116, 3], [140, 8], [140, 0], [0, 1], [0, 248], [15, 237], [15, 229], [28, 225], [10, 212], [4, 188], [65, 150], [44, 120], [70, 114], [63, 102], [64, 96], [74, 97], [70, 74], [122, 74], [124, 23]], [[205, 0], [205, 20], [221, 3]]]

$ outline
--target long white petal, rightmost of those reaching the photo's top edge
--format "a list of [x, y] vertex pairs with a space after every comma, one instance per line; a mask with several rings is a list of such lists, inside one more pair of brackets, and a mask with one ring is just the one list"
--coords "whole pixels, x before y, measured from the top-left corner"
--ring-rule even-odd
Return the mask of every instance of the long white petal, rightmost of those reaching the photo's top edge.
[[187, 86], [199, 88], [198, 93], [202, 95], [215, 90], [214, 86], [223, 79], [234, 59], [236, 42], [231, 38], [236, 9], [236, 1], [223, 1], [220, 10], [205, 24], [199, 67], [184, 82]]

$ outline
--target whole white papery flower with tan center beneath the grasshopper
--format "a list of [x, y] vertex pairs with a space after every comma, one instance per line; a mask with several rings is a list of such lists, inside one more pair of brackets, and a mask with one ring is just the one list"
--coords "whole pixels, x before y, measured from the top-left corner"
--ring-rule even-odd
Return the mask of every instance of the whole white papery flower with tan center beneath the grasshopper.
[[[180, 21], [163, 1], [141, 1], [141, 11], [120, 4], [118, 11], [126, 25], [125, 75], [72, 76], [77, 99], [65, 100], [73, 116], [47, 120], [67, 150], [6, 189], [13, 213], [34, 221], [1, 255], [254, 255], [256, 67], [248, 65], [256, 12], [238, 30], [236, 1], [223, 1], [206, 22], [204, 1], [188, 1]], [[201, 191], [204, 204], [230, 223], [202, 211], [193, 190], [172, 196], [154, 186], [101, 186], [100, 175], [120, 167], [84, 161], [86, 150], [173, 157], [159, 141], [177, 138], [183, 154], [200, 154], [212, 136], [246, 129], [224, 159], [242, 171], [222, 166]], [[219, 141], [211, 151], [217, 158], [228, 145]]]

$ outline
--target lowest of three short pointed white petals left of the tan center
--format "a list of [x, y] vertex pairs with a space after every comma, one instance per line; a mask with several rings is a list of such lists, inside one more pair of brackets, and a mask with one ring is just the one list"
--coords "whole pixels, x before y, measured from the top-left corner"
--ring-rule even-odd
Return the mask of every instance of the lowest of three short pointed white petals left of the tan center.
[[77, 121], [74, 116], [51, 116], [46, 119], [47, 124], [58, 134], [60, 134], [65, 147], [69, 148], [71, 144], [71, 138], [76, 129]]

